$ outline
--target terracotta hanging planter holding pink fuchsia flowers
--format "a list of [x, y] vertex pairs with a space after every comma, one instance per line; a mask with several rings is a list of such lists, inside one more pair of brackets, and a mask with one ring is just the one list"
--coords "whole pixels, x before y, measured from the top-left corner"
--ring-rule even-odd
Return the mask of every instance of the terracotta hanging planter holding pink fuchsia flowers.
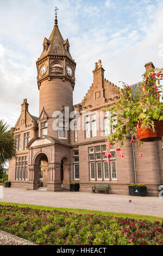
[[155, 121], [155, 131], [152, 129], [141, 128], [141, 124], [137, 124], [137, 137], [142, 142], [153, 142], [153, 141], [161, 141], [163, 136], [163, 121]]

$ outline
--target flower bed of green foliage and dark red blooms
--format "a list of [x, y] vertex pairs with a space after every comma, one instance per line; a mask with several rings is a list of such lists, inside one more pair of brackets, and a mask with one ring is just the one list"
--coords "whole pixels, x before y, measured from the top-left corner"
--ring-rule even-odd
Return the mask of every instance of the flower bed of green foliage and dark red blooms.
[[3, 206], [0, 229], [39, 245], [163, 245], [163, 220]]

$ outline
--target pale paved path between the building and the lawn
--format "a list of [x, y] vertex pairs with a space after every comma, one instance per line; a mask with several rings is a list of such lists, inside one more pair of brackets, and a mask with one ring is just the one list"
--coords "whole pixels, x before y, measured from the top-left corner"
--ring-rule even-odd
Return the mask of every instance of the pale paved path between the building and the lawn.
[[[129, 203], [129, 200], [132, 200]], [[34, 204], [57, 208], [76, 208], [124, 212], [163, 217], [163, 198], [133, 197], [91, 192], [42, 192], [23, 188], [3, 188], [0, 202]]]

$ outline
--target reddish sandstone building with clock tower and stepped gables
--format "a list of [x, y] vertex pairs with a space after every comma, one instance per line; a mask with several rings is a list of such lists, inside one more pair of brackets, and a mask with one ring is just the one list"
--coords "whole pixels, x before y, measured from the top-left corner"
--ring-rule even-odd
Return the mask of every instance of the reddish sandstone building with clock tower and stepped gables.
[[[76, 63], [55, 19], [36, 66], [39, 117], [29, 113], [24, 99], [14, 128], [17, 157], [9, 162], [11, 187], [34, 190], [41, 184], [47, 191], [61, 191], [68, 190], [70, 182], [75, 181], [80, 183], [80, 191], [106, 183], [109, 193], [128, 194], [128, 185], [137, 181], [147, 185], [149, 196], [158, 196], [158, 186], [163, 184], [161, 142], [145, 143], [140, 158], [139, 148], [127, 137], [123, 147], [126, 158], [120, 159], [113, 146], [111, 162], [105, 161], [109, 124], [101, 115], [103, 108], [118, 101], [120, 95], [117, 87], [104, 78], [101, 60], [95, 64], [92, 86], [82, 102], [73, 106]], [[150, 70], [153, 64], [145, 67]], [[55, 124], [58, 129], [54, 129]], [[69, 129], [70, 124], [73, 129]]]

